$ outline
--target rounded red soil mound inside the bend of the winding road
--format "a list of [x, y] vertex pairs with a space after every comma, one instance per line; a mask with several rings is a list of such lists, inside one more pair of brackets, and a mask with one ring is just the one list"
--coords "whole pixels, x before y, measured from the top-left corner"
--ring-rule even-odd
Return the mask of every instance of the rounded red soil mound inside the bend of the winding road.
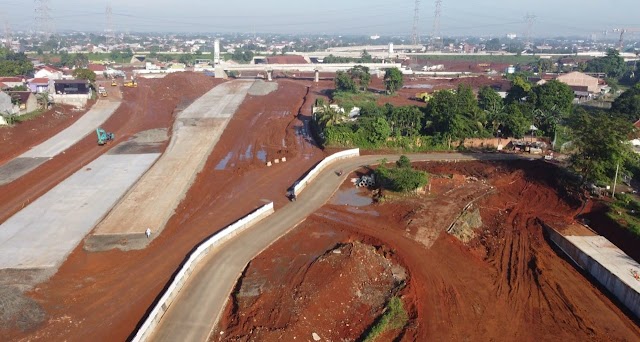
[[[285, 255], [296, 249], [283, 240], [274, 248]], [[265, 269], [288, 270], [287, 281], [264, 274]], [[406, 279], [402, 266], [360, 242], [339, 244], [315, 258], [258, 258], [231, 296], [227, 317], [232, 319], [214, 330], [212, 340], [305, 340], [316, 333], [327, 341], [353, 341]]]

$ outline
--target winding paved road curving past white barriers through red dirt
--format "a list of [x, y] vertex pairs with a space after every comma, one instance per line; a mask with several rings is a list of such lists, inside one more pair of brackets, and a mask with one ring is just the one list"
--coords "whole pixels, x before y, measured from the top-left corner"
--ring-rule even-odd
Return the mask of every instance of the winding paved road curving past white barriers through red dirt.
[[[408, 156], [412, 161], [522, 159], [521, 156], [509, 154], [434, 153]], [[350, 171], [363, 165], [377, 164], [382, 158], [395, 161], [398, 156], [360, 156], [334, 163], [298, 196], [296, 202], [289, 203], [217, 250], [211, 251], [200, 261], [150, 340], [207, 341], [246, 265], [279, 237], [324, 205]], [[334, 173], [336, 170], [345, 172], [343, 176], [337, 177]], [[280, 195], [282, 194], [274, 194]]]

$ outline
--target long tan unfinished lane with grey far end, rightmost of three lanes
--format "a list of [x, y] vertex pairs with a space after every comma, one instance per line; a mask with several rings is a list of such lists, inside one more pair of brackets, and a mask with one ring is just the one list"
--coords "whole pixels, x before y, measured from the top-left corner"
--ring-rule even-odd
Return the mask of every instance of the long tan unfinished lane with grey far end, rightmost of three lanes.
[[[179, 113], [162, 157], [96, 227], [85, 249], [140, 249], [157, 237], [254, 84], [220, 84]], [[142, 234], [147, 228], [151, 239]]]

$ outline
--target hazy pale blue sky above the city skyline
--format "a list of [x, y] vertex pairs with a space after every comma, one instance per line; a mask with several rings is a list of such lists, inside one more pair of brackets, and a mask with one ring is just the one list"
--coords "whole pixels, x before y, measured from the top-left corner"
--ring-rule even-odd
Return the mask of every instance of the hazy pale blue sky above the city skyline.
[[[116, 31], [410, 34], [412, 0], [48, 0], [57, 30], [104, 31], [111, 5]], [[0, 0], [0, 20], [13, 31], [32, 27], [34, 0]], [[421, 35], [433, 30], [435, 0], [421, 0]], [[640, 28], [640, 0], [442, 0], [443, 36], [587, 37], [617, 27]], [[4, 26], [4, 25], [3, 25]]]

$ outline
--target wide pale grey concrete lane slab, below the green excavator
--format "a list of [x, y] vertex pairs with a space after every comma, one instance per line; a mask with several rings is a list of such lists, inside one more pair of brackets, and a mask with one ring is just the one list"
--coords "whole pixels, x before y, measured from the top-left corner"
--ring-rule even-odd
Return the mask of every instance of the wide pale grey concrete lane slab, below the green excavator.
[[0, 269], [57, 268], [159, 156], [102, 155], [10, 217]]

